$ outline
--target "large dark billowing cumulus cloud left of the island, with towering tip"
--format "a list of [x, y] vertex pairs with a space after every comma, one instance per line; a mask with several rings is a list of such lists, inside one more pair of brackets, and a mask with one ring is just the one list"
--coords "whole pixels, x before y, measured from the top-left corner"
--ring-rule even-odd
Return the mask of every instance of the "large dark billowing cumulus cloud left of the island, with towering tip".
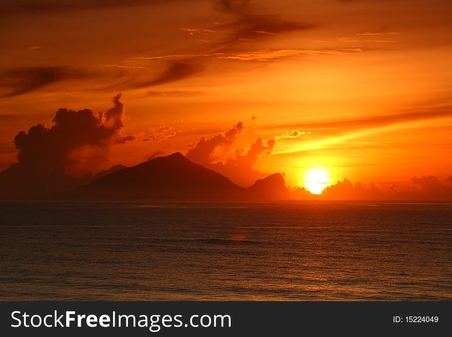
[[123, 128], [120, 97], [113, 98], [114, 106], [105, 113], [61, 108], [56, 111], [53, 126], [37, 124], [28, 132], [19, 132], [14, 138], [18, 162], [0, 172], [1, 196], [49, 196], [74, 184], [65, 175], [68, 167], [79, 164], [72, 154], [91, 148], [99, 149], [97, 156], [102, 155]]

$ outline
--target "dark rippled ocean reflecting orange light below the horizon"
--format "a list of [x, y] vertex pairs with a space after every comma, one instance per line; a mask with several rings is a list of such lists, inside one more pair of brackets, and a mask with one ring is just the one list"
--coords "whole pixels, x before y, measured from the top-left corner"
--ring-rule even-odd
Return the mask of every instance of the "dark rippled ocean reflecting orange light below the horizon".
[[452, 204], [0, 202], [0, 299], [452, 300]]

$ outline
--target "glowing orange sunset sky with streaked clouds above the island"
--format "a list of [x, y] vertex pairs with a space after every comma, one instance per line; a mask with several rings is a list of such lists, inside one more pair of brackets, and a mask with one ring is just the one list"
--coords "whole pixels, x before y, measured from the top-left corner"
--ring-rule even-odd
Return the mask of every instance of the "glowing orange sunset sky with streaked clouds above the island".
[[19, 131], [121, 93], [100, 141], [55, 141], [66, 174], [180, 151], [241, 186], [452, 185], [450, 1], [23, 0], [0, 16], [0, 171]]

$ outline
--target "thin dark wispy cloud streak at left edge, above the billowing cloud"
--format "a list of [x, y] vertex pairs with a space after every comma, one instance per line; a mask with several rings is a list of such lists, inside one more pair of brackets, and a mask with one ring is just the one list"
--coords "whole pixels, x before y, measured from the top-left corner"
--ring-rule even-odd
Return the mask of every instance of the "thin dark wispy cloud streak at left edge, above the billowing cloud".
[[81, 72], [64, 67], [35, 67], [8, 70], [0, 74], [0, 97], [13, 97], [42, 88], [67, 78], [80, 77]]

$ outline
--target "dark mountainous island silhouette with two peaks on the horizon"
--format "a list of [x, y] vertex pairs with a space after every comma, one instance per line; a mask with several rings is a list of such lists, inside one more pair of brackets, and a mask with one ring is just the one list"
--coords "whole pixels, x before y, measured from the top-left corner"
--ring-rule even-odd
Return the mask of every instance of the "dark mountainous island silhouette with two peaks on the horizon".
[[56, 196], [103, 200], [286, 200], [289, 191], [280, 173], [258, 180], [247, 189], [176, 152], [120, 169]]

